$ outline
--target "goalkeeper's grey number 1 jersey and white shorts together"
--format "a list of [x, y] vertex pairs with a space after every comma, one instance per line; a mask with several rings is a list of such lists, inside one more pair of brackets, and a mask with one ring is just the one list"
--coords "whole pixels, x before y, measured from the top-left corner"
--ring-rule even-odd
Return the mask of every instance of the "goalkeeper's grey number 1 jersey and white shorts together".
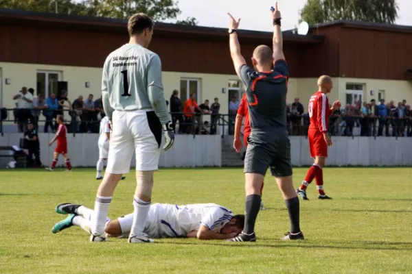
[[159, 56], [140, 45], [113, 51], [104, 62], [102, 97], [113, 125], [106, 172], [128, 173], [133, 151], [137, 171], [157, 170], [162, 124], [170, 121]]

